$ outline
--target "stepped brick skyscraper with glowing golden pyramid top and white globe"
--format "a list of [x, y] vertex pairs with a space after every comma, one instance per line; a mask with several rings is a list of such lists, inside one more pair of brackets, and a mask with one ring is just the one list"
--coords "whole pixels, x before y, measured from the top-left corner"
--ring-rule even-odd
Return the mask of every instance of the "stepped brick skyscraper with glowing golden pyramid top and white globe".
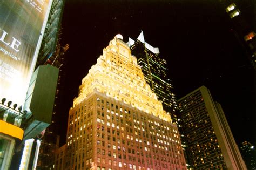
[[117, 35], [70, 108], [65, 169], [186, 169], [177, 125]]

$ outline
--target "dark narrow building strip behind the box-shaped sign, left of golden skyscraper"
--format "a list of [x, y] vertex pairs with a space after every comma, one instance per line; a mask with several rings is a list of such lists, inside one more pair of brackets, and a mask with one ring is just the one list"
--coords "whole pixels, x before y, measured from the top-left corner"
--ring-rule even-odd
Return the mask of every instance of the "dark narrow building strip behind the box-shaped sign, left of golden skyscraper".
[[51, 64], [59, 69], [58, 83], [55, 95], [55, 104], [52, 111], [51, 125], [45, 129], [44, 137], [42, 138], [41, 147], [39, 149], [37, 169], [49, 169], [53, 166], [55, 150], [59, 147], [59, 124], [62, 113], [60, 112], [60, 104], [63, 100], [63, 83], [65, 78], [64, 54], [68, 50], [68, 44], [61, 46], [57, 43], [56, 51], [46, 61], [47, 64]]

